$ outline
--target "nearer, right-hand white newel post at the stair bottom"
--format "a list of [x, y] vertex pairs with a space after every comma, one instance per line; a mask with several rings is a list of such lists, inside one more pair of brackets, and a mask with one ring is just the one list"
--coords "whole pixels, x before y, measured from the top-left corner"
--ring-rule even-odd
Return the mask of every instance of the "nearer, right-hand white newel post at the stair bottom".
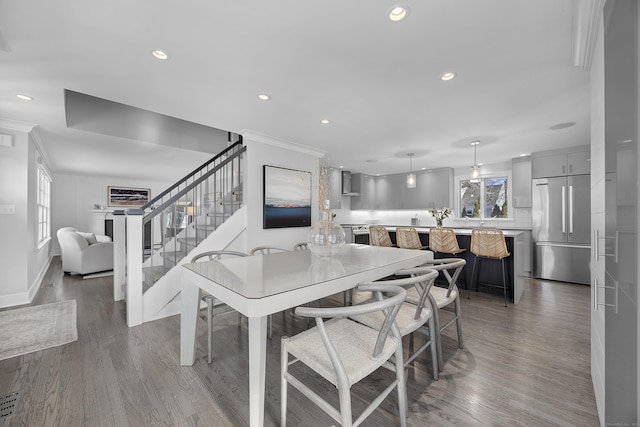
[[141, 325], [142, 314], [142, 213], [127, 212], [127, 325]]

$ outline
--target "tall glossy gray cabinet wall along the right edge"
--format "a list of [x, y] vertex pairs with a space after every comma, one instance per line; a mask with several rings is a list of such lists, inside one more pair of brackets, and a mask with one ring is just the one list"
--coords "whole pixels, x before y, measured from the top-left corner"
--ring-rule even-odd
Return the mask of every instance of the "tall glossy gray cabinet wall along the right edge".
[[638, 2], [606, 2], [604, 16], [591, 81], [592, 102], [604, 100], [592, 132], [591, 376], [600, 424], [637, 425]]

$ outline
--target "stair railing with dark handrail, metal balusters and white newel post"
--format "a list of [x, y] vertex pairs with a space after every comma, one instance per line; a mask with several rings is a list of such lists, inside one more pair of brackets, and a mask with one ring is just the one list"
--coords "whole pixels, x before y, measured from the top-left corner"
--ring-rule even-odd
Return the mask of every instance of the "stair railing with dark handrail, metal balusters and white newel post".
[[239, 141], [146, 205], [127, 210], [126, 284], [114, 295], [127, 300], [129, 326], [142, 323], [142, 294], [242, 206], [245, 151]]

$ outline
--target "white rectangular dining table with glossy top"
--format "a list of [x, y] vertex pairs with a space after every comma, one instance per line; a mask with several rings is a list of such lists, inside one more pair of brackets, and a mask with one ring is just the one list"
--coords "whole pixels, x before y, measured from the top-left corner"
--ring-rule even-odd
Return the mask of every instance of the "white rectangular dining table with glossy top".
[[348, 244], [331, 257], [309, 250], [184, 264], [180, 364], [195, 362], [200, 292], [249, 319], [249, 420], [264, 423], [267, 317], [389, 276], [431, 258], [429, 251]]

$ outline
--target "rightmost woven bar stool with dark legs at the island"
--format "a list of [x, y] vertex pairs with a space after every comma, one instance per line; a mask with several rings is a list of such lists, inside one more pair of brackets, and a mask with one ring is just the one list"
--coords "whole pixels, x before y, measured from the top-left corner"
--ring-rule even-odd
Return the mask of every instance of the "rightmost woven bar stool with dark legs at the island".
[[[480, 283], [484, 286], [502, 288], [504, 293], [504, 306], [507, 306], [507, 286], [509, 278], [507, 277], [507, 267], [505, 258], [511, 254], [507, 250], [507, 243], [504, 240], [504, 234], [497, 228], [474, 228], [471, 231], [471, 253], [476, 256], [473, 260], [473, 270], [471, 272], [472, 282], [476, 282], [476, 290], [478, 290], [479, 281], [476, 279], [476, 266], [479, 258], [498, 259], [502, 263], [502, 285], [494, 283]], [[467, 299], [471, 298], [471, 285]]]

